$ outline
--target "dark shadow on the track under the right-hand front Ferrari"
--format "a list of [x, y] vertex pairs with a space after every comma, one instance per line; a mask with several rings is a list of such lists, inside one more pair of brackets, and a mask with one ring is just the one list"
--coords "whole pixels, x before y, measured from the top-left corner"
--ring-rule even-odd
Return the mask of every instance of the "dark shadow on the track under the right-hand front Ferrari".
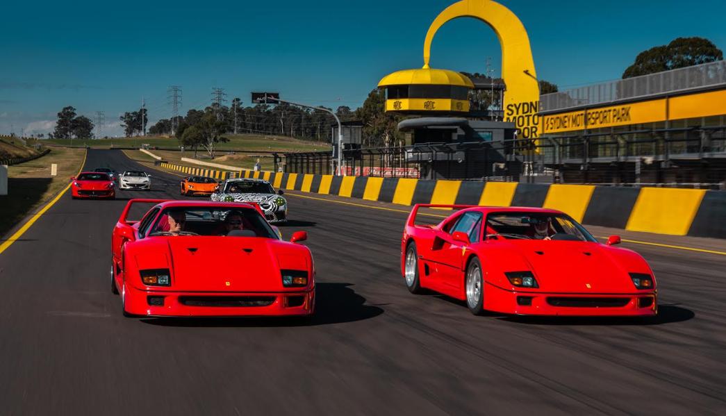
[[690, 309], [675, 305], [658, 305], [655, 317], [501, 317], [502, 321], [527, 325], [663, 325], [688, 321], [696, 317]]

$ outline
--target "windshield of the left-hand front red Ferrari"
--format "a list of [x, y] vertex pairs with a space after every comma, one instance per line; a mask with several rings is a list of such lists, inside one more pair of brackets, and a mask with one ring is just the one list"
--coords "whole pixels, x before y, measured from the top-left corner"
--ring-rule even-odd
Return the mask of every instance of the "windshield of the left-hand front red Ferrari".
[[164, 210], [149, 236], [206, 235], [278, 239], [264, 217], [252, 208], [179, 207]]

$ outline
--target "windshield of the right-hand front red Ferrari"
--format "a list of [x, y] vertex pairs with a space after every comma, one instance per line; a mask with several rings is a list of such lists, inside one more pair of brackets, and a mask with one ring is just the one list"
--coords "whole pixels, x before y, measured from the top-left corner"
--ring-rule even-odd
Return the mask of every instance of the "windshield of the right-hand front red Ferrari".
[[582, 225], [566, 215], [534, 212], [490, 213], [486, 216], [486, 238], [596, 241]]

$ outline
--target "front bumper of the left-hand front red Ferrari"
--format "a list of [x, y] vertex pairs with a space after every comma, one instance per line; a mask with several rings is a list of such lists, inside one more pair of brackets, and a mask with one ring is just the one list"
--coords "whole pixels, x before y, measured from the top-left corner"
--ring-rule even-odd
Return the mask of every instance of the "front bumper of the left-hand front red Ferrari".
[[[163, 305], [152, 306], [159, 297]], [[233, 303], [237, 306], [230, 306]], [[294, 317], [310, 315], [314, 309], [314, 287], [284, 293], [170, 292], [126, 287], [126, 311], [151, 317]]]

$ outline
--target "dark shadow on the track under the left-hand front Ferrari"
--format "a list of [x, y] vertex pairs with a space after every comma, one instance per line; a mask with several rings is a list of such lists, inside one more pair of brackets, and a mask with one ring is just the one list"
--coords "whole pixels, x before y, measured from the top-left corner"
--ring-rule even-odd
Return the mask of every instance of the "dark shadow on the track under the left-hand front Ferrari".
[[365, 305], [365, 298], [351, 286], [350, 283], [318, 283], [315, 314], [311, 318], [142, 318], [141, 322], [166, 327], [306, 327], [356, 322], [383, 314], [378, 306]]

